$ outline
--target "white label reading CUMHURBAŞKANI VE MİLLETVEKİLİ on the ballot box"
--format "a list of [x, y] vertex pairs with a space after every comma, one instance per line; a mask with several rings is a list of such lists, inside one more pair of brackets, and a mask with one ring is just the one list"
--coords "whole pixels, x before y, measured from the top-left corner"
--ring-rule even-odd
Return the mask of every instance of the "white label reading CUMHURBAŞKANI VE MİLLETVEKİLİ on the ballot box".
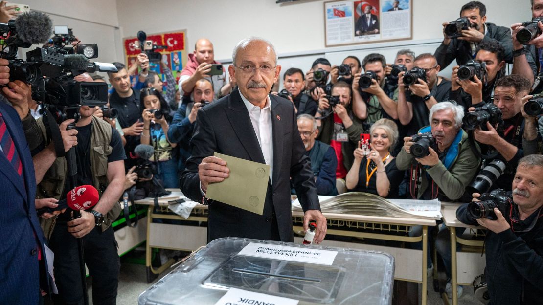
[[333, 264], [337, 253], [336, 251], [311, 249], [309, 247], [249, 243], [238, 254], [330, 266]]

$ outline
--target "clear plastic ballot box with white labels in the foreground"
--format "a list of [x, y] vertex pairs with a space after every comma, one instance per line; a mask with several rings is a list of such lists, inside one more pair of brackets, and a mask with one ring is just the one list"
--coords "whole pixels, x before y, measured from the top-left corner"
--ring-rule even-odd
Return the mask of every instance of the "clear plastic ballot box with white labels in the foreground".
[[388, 253], [229, 237], [195, 252], [138, 303], [390, 304], [393, 279]]

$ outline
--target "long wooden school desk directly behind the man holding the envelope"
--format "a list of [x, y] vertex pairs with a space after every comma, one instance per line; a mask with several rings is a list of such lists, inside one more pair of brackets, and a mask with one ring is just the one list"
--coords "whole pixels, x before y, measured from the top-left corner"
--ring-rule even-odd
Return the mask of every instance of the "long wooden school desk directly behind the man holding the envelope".
[[[179, 191], [179, 189], [177, 189]], [[161, 211], [167, 212], [168, 201], [176, 198], [166, 197], [159, 199]], [[154, 269], [151, 264], [151, 248], [176, 250], [195, 250], [200, 246], [207, 244], [207, 227], [194, 225], [171, 225], [153, 223], [153, 219], [172, 219], [180, 221], [198, 221], [199, 224], [207, 222], [207, 206], [197, 205], [194, 207], [191, 216], [187, 219], [179, 215], [168, 213], [156, 213], [154, 211], [153, 200], [138, 200], [136, 204], [149, 205], [147, 216], [147, 247], [146, 247], [146, 266], [148, 270], [148, 279], [152, 274], [159, 274], [168, 268], [173, 259], [165, 265]], [[394, 218], [394, 217], [376, 217], [370, 215], [336, 214], [324, 213], [327, 219], [327, 233], [337, 236], [349, 236], [357, 238], [370, 238], [381, 240], [394, 240], [398, 242], [417, 243], [422, 242], [422, 250], [405, 249], [388, 246], [367, 245], [361, 243], [338, 242], [335, 240], [324, 240], [321, 245], [344, 247], [351, 249], [375, 250], [390, 253], [396, 259], [395, 279], [402, 281], [418, 282], [422, 284], [422, 291], [427, 290], [427, 246], [428, 246], [428, 226], [435, 226], [435, 220], [415, 219], [415, 218]], [[293, 230], [295, 233], [303, 232], [302, 212], [293, 212]], [[422, 226], [422, 235], [418, 237], [409, 237], [407, 233], [413, 225]], [[345, 230], [349, 228], [351, 230]], [[364, 229], [371, 232], [364, 232]], [[182, 232], [180, 234], [180, 232]], [[375, 233], [382, 232], [382, 233]], [[393, 234], [391, 234], [393, 233]], [[403, 235], [394, 234], [402, 233]], [[303, 234], [302, 234], [303, 236]], [[301, 237], [295, 237], [295, 243], [302, 242]], [[422, 259], [413, 260], [413, 257]], [[422, 293], [422, 304], [426, 304], [427, 294]]]

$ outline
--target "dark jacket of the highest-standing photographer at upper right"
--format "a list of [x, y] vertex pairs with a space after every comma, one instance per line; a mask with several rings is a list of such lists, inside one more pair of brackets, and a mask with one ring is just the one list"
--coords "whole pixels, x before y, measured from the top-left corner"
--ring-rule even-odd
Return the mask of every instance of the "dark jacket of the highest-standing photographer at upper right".
[[[484, 35], [483, 41], [497, 40], [505, 49], [504, 60], [508, 63], [513, 62], [513, 40], [511, 38], [511, 30], [506, 27], [496, 26], [494, 23], [485, 23], [488, 29], [487, 35]], [[443, 42], [435, 50], [435, 59], [441, 69], [449, 66], [456, 59], [459, 66], [473, 59], [471, 54], [470, 43], [465, 40], [451, 39], [449, 45], [444, 45]]]

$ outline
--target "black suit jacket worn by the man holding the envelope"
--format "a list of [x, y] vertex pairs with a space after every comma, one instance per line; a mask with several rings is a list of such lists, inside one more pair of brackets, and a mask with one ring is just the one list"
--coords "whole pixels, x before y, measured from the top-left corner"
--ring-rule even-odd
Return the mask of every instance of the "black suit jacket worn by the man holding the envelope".
[[[208, 240], [244, 237], [270, 240], [275, 213], [281, 241], [293, 242], [291, 180], [304, 211], [319, 209], [319, 199], [310, 159], [291, 101], [270, 95], [273, 137], [273, 183], [268, 183], [263, 215], [212, 201], [209, 205]], [[247, 107], [237, 88], [226, 97], [198, 110], [191, 140], [192, 156], [180, 179], [188, 198], [201, 202], [198, 164], [214, 152], [265, 163]]]

